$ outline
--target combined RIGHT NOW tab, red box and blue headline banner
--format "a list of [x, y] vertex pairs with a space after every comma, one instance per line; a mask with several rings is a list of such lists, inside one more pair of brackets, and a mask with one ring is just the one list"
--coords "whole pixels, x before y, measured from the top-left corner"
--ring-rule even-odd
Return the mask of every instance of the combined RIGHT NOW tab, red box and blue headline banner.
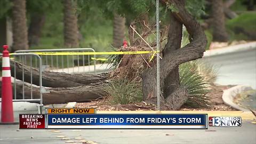
[[46, 108], [20, 114], [20, 129], [207, 129], [207, 114], [96, 114], [94, 108]]

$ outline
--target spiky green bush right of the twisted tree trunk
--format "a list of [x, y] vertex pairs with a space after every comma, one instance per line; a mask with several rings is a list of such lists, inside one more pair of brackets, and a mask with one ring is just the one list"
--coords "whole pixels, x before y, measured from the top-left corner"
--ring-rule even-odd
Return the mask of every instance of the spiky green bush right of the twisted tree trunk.
[[202, 62], [191, 61], [179, 66], [180, 84], [188, 90], [188, 101], [191, 107], [209, 107], [210, 83], [214, 84], [217, 78], [214, 68]]

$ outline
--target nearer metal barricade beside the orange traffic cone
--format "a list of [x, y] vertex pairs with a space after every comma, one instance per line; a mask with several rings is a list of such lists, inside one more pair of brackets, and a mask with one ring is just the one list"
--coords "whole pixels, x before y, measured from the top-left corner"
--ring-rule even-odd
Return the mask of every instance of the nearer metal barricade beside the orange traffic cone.
[[[0, 56], [3, 54], [1, 53]], [[20, 57], [20, 58], [18, 58]], [[25, 63], [25, 58], [30, 57], [30, 64]], [[33, 79], [33, 57], [38, 62], [38, 79]], [[42, 107], [43, 107], [43, 92], [45, 91], [44, 87], [42, 86], [42, 59], [39, 55], [34, 53], [12, 53], [10, 55], [10, 59], [14, 59], [13, 61], [10, 61], [12, 63], [12, 83], [13, 83], [13, 101], [28, 101], [28, 102], [38, 102], [38, 113], [42, 113]], [[20, 60], [19, 60], [20, 59]], [[1, 59], [2, 60], [2, 59]], [[17, 62], [19, 62], [19, 65], [21, 66], [21, 69], [19, 69], [21, 72], [21, 75], [19, 74], [19, 79], [17, 79]], [[27, 64], [27, 65], [26, 65]], [[27, 78], [30, 77], [30, 83], [25, 82], [25, 67], [27, 67], [27, 70], [30, 70], [30, 75], [26, 75]], [[12, 71], [13, 70], [13, 71]], [[33, 81], [38, 82], [38, 88], [39, 88], [39, 97], [35, 98], [33, 95], [33, 89], [36, 85], [33, 84]], [[19, 83], [19, 86], [21, 86], [21, 91], [17, 91], [17, 84]], [[29, 87], [30, 92], [25, 93], [25, 85], [26, 87]]]

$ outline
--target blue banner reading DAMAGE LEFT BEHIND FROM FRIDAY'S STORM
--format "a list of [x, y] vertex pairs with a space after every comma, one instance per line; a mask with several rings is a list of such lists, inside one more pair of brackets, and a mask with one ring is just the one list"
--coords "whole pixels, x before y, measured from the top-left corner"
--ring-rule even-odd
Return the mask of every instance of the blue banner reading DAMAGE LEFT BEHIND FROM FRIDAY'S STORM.
[[46, 129], [207, 129], [207, 114], [47, 114]]

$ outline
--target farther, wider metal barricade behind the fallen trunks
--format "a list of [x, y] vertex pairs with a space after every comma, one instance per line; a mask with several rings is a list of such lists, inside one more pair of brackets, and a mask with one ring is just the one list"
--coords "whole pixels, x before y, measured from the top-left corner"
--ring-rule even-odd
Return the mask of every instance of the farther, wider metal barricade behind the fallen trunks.
[[[76, 49], [41, 49], [41, 50], [18, 50], [15, 53], [33, 52], [95, 52], [92, 48]], [[42, 58], [43, 69], [62, 73], [94, 73], [96, 67], [96, 56], [93, 55], [93, 71], [91, 70], [90, 55], [40, 55]], [[70, 58], [71, 57], [71, 58]], [[86, 60], [87, 59], [87, 60]], [[26, 62], [26, 60], [25, 60]], [[87, 63], [86, 63], [87, 62]], [[37, 66], [35, 66], [37, 67]], [[71, 70], [70, 70], [71, 69]]]

